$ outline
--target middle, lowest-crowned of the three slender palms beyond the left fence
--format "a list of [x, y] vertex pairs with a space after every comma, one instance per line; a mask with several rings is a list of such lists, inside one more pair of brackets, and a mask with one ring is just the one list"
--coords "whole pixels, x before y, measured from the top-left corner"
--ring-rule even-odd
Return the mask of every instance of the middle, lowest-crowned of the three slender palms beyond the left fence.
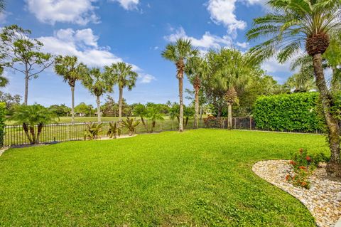
[[92, 95], [96, 96], [97, 103], [97, 121], [101, 122], [101, 100], [104, 93], [112, 92], [112, 80], [109, 80], [107, 74], [101, 73], [99, 68], [92, 68], [82, 80], [85, 88], [90, 90]]

